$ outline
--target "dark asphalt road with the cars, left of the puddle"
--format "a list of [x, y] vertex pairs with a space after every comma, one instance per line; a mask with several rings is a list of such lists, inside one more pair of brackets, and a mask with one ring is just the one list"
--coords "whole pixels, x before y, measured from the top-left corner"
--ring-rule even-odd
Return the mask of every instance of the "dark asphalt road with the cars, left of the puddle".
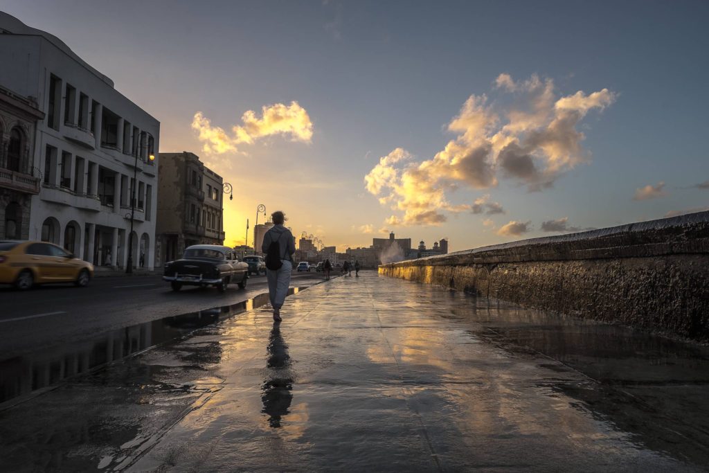
[[[294, 272], [291, 286], [322, 279], [322, 273]], [[158, 318], [236, 304], [267, 291], [264, 276], [252, 276], [246, 289], [231, 284], [223, 294], [212, 287], [174, 292], [158, 275], [97, 277], [86, 288], [55, 284], [20, 292], [3, 286], [0, 360]]]

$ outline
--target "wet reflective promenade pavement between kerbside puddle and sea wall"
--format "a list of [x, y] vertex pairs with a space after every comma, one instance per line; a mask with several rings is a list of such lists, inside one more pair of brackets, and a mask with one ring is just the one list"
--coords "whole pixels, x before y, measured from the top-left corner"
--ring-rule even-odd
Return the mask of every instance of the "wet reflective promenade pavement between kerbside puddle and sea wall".
[[709, 466], [706, 347], [374, 272], [281, 314], [183, 321], [0, 404], [0, 470]]

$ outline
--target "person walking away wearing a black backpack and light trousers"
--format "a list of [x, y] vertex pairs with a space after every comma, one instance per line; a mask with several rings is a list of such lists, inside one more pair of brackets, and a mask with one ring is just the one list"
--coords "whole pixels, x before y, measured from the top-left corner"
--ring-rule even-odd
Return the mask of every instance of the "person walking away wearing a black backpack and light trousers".
[[[268, 294], [273, 307], [273, 320], [281, 321], [281, 307], [286, 301], [288, 286], [291, 283], [291, 272], [293, 272], [293, 254], [296, 252], [296, 244], [293, 240], [291, 230], [284, 227], [286, 216], [281, 211], [275, 211], [271, 214], [271, 219], [274, 223], [264, 235], [264, 243], [261, 245], [261, 250], [264, 253], [269, 252], [271, 243], [277, 243], [278, 258], [281, 260], [281, 267], [278, 269], [268, 268], [266, 278], [268, 279]], [[267, 260], [269, 257], [267, 256]]]

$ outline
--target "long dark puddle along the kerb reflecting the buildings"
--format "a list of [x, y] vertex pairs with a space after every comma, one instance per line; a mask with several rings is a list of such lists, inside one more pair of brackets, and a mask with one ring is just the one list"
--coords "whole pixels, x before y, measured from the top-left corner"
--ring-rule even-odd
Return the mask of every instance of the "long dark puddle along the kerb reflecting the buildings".
[[[303, 287], [291, 287], [288, 295]], [[53, 386], [63, 379], [89, 372], [116, 360], [135, 355], [150, 347], [188, 335], [192, 331], [224, 321], [269, 302], [268, 293], [252, 299], [159, 318], [129, 327], [104, 332], [89, 340], [50, 347], [0, 361], [0, 410], [6, 401]]]

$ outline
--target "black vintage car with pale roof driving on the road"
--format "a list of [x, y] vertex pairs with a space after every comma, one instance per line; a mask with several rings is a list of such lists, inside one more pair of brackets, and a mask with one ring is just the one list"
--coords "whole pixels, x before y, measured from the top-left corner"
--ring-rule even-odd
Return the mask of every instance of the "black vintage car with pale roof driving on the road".
[[249, 265], [236, 259], [234, 250], [220, 245], [193, 245], [184, 250], [182, 260], [165, 263], [162, 279], [173, 291], [182, 286], [216, 286], [224, 292], [230, 283], [246, 287]]

